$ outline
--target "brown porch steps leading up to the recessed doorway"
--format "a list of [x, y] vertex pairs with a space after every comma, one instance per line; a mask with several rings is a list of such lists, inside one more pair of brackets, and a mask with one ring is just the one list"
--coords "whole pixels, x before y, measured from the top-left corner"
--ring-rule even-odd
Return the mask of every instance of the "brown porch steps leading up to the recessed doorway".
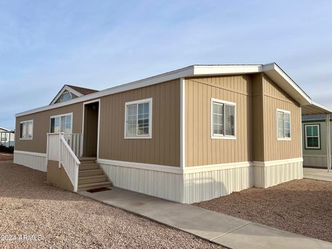
[[81, 162], [78, 172], [77, 191], [111, 187], [113, 184], [95, 162], [95, 158], [78, 158]]

